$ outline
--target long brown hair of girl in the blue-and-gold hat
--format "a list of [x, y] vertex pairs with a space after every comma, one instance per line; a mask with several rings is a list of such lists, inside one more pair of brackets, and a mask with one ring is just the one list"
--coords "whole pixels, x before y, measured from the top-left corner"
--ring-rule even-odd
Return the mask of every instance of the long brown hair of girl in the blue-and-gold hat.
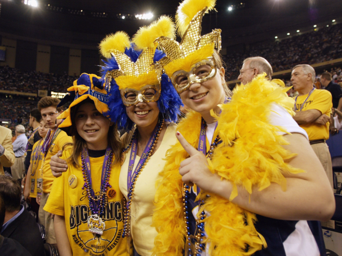
[[[81, 156], [82, 150], [84, 148], [87, 148], [86, 142], [84, 140], [84, 138], [82, 138], [77, 130], [76, 130], [76, 125], [75, 125], [75, 116], [76, 116], [76, 112], [77, 109], [84, 103], [86, 102], [90, 102], [94, 104], [94, 101], [92, 101], [91, 99], [85, 99], [82, 102], [80, 102], [79, 104], [77, 104], [76, 106], [73, 106], [71, 108], [71, 122], [72, 122], [72, 140], [73, 143], [66, 143], [63, 146], [63, 150], [67, 147], [72, 146], [72, 153], [70, 155], [69, 158], [67, 158], [67, 162], [69, 164], [72, 164], [76, 167], [80, 167], [80, 163], [78, 162], [78, 158], [79, 156]], [[108, 135], [107, 135], [107, 140], [108, 140], [108, 146], [113, 150], [113, 155], [114, 155], [114, 161], [113, 163], [117, 163], [120, 158], [121, 158], [121, 153], [123, 150], [123, 144], [120, 140], [120, 135], [118, 133], [118, 129], [117, 129], [117, 125], [116, 123], [114, 123], [113, 125], [109, 126], [109, 130], [108, 130]]]

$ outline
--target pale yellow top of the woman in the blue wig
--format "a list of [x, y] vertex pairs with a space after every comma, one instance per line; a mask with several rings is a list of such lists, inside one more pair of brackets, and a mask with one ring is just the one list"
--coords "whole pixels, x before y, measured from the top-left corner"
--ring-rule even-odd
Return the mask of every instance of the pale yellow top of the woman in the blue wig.
[[[166, 151], [177, 142], [176, 127], [177, 125], [174, 123], [169, 124], [158, 150], [150, 157], [135, 183], [130, 207], [130, 232], [134, 248], [141, 256], [151, 255], [150, 250], [154, 246], [154, 237], [158, 235], [155, 228], [151, 227], [154, 209], [153, 202], [157, 190], [156, 181], [162, 178], [159, 176], [159, 172], [164, 169]], [[128, 194], [127, 176], [129, 156], [130, 150], [126, 154], [119, 178], [120, 190], [126, 198]], [[133, 170], [135, 170], [139, 160], [140, 157], [136, 156]]]

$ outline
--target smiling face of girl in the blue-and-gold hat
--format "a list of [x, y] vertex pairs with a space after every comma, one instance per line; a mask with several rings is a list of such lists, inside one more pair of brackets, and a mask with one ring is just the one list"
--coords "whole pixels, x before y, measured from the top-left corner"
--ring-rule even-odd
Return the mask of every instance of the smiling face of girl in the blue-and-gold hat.
[[85, 140], [89, 149], [107, 148], [109, 126], [112, 125], [95, 107], [94, 103], [82, 104], [75, 114], [77, 133]]

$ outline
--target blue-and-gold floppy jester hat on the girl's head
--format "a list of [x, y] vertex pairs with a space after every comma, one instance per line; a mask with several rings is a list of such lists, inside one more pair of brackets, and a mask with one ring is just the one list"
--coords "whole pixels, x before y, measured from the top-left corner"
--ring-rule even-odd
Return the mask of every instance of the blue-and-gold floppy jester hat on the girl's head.
[[72, 115], [77, 104], [86, 99], [92, 100], [101, 114], [104, 115], [104, 113], [108, 112], [109, 95], [107, 95], [107, 91], [103, 87], [101, 77], [83, 73], [79, 79], [74, 81], [73, 86], [67, 90], [69, 93], [61, 100], [57, 107], [61, 107], [71, 100], [72, 102], [69, 108], [59, 115], [57, 119], [64, 119], [58, 128], [66, 132], [68, 136], [73, 135]]

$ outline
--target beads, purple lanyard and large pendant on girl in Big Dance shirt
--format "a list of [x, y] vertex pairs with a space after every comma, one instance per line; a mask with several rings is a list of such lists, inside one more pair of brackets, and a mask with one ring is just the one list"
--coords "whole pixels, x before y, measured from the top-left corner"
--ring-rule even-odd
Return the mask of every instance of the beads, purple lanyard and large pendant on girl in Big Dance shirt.
[[88, 217], [87, 224], [89, 231], [94, 234], [94, 239], [96, 237], [96, 234], [101, 236], [103, 234], [103, 231], [105, 230], [105, 223], [102, 221], [102, 218], [100, 216], [101, 214], [103, 214], [103, 211], [107, 204], [107, 189], [111, 188], [108, 180], [110, 177], [112, 158], [113, 151], [110, 147], [107, 147], [102, 167], [100, 195], [96, 198], [95, 192], [92, 187], [90, 159], [88, 151], [86, 148], [84, 148], [81, 153], [82, 174], [85, 181], [82, 190], [85, 189], [87, 192], [89, 199], [89, 208], [91, 212], [91, 216]]

